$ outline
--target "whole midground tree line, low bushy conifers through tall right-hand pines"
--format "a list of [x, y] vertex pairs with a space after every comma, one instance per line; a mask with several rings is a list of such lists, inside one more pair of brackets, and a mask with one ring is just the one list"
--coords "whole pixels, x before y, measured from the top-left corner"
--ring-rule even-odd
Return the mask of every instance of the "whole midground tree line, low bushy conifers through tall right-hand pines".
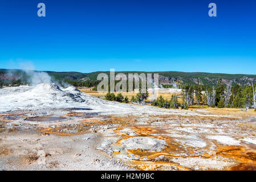
[[[220, 79], [216, 86], [208, 85], [192, 85], [187, 84], [182, 86], [182, 103], [178, 102], [178, 97], [173, 94], [170, 100], [164, 100], [162, 96], [158, 97], [152, 102], [152, 106], [163, 108], [188, 109], [191, 105], [208, 105], [210, 107], [218, 108], [254, 108], [255, 109], [255, 96], [256, 84], [238, 85], [238, 84], [224, 84]], [[128, 97], [123, 97], [121, 93], [115, 96], [114, 93], [107, 93], [105, 100], [117, 102], [137, 102], [143, 103], [147, 100], [148, 93], [137, 93], [136, 97], [132, 96], [131, 101]], [[256, 111], [256, 109], [255, 109]]]

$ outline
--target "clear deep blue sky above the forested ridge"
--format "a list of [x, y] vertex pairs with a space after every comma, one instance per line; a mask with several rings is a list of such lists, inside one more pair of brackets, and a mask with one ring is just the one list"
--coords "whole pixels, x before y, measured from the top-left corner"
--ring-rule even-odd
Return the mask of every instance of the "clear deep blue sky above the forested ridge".
[[[39, 2], [46, 17], [37, 16]], [[1, 0], [0, 68], [26, 63], [40, 71], [256, 75], [256, 1]]]

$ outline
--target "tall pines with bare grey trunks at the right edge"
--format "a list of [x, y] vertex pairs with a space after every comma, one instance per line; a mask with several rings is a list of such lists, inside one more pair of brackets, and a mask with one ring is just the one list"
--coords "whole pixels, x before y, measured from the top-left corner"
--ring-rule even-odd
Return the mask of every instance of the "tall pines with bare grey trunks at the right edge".
[[220, 79], [216, 86], [185, 85], [182, 101], [188, 105], [208, 105], [210, 107], [255, 108], [256, 84], [241, 86], [224, 84]]

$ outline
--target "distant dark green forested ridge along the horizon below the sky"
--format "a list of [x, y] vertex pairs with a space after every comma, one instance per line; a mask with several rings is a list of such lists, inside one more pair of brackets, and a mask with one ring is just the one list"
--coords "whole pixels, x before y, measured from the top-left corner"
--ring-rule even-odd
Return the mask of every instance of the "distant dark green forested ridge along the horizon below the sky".
[[[36, 71], [35, 71], [36, 72]], [[53, 80], [60, 83], [66, 82], [73, 86], [95, 87], [100, 81], [97, 81], [99, 73], [109, 72], [48, 72]], [[251, 81], [256, 82], [256, 75], [231, 75], [222, 73], [186, 73], [186, 72], [115, 72], [115, 74], [124, 73], [159, 73], [159, 84], [163, 88], [171, 88], [173, 85], [204, 85], [216, 86], [220, 80], [224, 84], [248, 85]], [[118, 82], [118, 81], [117, 81]], [[19, 69], [0, 69], [0, 87], [1, 86], [19, 86], [29, 84], [29, 78], [25, 71]]]

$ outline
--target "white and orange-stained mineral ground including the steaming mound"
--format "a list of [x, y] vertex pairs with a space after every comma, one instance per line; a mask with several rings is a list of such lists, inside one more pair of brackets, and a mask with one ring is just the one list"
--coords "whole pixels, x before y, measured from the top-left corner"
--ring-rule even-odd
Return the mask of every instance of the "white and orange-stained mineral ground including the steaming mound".
[[55, 84], [0, 92], [1, 170], [256, 170], [253, 116], [100, 100]]

